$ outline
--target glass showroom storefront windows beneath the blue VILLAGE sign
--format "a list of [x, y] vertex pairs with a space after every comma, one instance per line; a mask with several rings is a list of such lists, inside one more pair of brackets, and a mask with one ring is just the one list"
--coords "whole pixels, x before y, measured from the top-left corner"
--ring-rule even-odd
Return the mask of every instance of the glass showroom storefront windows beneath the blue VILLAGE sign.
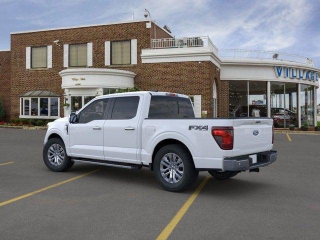
[[268, 99], [267, 81], [229, 80], [228, 83], [229, 117], [269, 115], [274, 127], [298, 127], [300, 117], [301, 126], [314, 126], [315, 93], [312, 85], [300, 84], [298, 92], [298, 83], [270, 81]]

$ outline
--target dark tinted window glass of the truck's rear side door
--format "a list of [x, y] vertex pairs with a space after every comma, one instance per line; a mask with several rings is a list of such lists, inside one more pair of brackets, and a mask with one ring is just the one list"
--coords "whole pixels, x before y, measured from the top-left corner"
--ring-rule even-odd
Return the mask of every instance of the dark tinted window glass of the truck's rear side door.
[[116, 97], [112, 109], [111, 119], [131, 119], [138, 109], [138, 96]]

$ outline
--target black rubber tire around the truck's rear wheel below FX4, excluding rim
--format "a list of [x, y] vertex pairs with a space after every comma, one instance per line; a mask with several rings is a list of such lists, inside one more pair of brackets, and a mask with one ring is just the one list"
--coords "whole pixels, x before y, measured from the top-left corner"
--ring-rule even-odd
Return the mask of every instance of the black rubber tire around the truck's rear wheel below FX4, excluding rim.
[[[160, 162], [167, 153], [176, 154], [183, 163], [183, 175], [176, 183], [170, 183], [161, 175]], [[199, 172], [194, 168], [192, 156], [188, 150], [180, 144], [169, 144], [161, 147], [155, 154], [153, 161], [154, 175], [157, 182], [167, 191], [179, 192], [190, 187], [198, 177]]]

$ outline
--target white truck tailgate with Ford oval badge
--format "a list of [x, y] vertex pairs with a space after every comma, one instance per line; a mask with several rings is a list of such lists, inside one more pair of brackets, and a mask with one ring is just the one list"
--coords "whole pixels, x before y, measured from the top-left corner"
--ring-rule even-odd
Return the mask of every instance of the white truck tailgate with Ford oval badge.
[[233, 121], [232, 156], [272, 148], [272, 118], [236, 118]]

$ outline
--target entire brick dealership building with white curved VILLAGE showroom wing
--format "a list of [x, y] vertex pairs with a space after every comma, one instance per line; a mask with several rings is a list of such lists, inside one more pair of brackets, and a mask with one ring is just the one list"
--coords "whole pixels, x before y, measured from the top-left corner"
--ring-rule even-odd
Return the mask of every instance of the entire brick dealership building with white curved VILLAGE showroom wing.
[[[198, 117], [282, 114], [283, 126], [315, 122], [319, 69], [309, 58], [218, 50], [207, 36], [176, 38], [148, 20], [12, 32], [10, 44], [0, 51], [7, 118], [62, 117], [96, 95], [136, 85], [189, 95]], [[286, 69], [295, 75], [286, 77]]]

